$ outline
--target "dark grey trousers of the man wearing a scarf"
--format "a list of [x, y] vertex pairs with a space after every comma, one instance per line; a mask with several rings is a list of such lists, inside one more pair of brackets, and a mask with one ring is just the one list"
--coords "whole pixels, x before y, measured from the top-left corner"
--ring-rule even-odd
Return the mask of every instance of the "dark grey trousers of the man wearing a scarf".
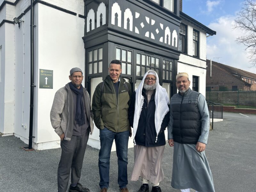
[[71, 169], [71, 183], [78, 183], [89, 138], [89, 129], [84, 135], [72, 135], [71, 140], [60, 141], [61, 156], [58, 167], [58, 192], [66, 192]]

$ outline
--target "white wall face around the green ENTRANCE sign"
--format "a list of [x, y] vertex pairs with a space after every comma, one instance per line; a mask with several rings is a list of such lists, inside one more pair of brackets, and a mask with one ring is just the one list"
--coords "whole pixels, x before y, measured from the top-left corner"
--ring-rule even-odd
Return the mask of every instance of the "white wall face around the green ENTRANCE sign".
[[[36, 94], [34, 142], [59, 142], [50, 122], [50, 110], [55, 92], [70, 82], [69, 71], [79, 67], [84, 71], [84, 19], [37, 4], [36, 27]], [[53, 70], [53, 89], [39, 89], [39, 69]], [[83, 82], [84, 84], [84, 82]], [[37, 127], [37, 129], [36, 129]], [[55, 142], [56, 143], [56, 142]], [[44, 149], [44, 144], [38, 148]], [[57, 146], [52, 146], [57, 147]], [[58, 146], [59, 147], [59, 146]]]

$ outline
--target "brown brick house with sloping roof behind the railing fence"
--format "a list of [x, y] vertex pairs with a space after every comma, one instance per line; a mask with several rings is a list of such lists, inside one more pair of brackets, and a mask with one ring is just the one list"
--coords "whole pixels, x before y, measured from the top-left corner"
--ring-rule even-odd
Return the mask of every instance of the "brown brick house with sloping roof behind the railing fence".
[[256, 90], [256, 74], [206, 60], [206, 91]]

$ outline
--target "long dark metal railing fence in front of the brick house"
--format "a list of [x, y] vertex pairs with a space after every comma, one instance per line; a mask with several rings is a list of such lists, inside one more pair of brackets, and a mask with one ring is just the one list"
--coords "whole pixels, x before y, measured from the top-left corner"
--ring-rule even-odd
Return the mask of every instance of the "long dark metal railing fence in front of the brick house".
[[256, 91], [207, 91], [206, 100], [236, 108], [256, 109]]

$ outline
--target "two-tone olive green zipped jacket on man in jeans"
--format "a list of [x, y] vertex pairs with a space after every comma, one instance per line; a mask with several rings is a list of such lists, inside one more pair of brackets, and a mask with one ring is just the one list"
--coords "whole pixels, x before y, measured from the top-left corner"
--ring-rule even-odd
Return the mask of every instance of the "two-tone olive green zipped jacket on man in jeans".
[[124, 78], [120, 77], [118, 98], [113, 81], [108, 75], [101, 94], [102, 83], [97, 85], [92, 97], [94, 124], [98, 129], [107, 127], [113, 132], [124, 132], [130, 129], [128, 109], [132, 88], [129, 83], [125, 87]]

